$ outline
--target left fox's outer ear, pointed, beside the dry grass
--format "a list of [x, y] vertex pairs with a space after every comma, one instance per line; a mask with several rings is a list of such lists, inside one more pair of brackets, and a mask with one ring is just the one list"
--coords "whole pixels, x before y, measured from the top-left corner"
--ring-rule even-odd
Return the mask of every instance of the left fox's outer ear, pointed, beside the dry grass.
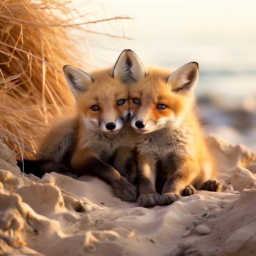
[[88, 74], [76, 67], [65, 65], [63, 70], [67, 84], [73, 94], [76, 94], [76, 92], [87, 91], [88, 86], [93, 82], [92, 78]]

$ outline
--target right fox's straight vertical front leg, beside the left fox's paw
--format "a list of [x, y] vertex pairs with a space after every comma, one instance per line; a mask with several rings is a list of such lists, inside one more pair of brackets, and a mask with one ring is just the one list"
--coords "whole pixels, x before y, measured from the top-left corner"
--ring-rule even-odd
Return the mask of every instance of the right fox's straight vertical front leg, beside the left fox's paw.
[[146, 156], [138, 158], [139, 198], [141, 207], [153, 207], [157, 205], [160, 195], [155, 191], [155, 159]]

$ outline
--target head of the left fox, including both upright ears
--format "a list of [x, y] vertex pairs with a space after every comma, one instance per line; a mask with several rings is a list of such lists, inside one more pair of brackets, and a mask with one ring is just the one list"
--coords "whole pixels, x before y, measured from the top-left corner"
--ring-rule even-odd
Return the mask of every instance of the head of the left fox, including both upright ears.
[[108, 134], [121, 130], [129, 117], [128, 85], [140, 78], [135, 56], [131, 50], [124, 50], [114, 68], [91, 74], [70, 65], [63, 67], [85, 129]]

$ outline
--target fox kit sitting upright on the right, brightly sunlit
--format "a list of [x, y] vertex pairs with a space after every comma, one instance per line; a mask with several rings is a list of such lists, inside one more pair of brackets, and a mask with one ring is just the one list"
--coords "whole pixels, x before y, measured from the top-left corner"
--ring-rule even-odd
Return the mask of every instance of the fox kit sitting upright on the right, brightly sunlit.
[[138, 82], [129, 87], [130, 122], [140, 133], [136, 138], [139, 205], [168, 205], [196, 189], [219, 191], [221, 184], [211, 180], [211, 157], [194, 113], [198, 63], [171, 73], [156, 68], [145, 72], [137, 56], [133, 61], [141, 72]]

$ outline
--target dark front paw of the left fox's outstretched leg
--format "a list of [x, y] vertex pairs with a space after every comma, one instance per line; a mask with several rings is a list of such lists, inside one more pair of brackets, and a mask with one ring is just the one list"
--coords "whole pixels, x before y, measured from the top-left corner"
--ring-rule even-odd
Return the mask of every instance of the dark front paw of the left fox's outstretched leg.
[[118, 198], [128, 202], [137, 201], [137, 189], [126, 178], [120, 177], [111, 187], [114, 195]]

